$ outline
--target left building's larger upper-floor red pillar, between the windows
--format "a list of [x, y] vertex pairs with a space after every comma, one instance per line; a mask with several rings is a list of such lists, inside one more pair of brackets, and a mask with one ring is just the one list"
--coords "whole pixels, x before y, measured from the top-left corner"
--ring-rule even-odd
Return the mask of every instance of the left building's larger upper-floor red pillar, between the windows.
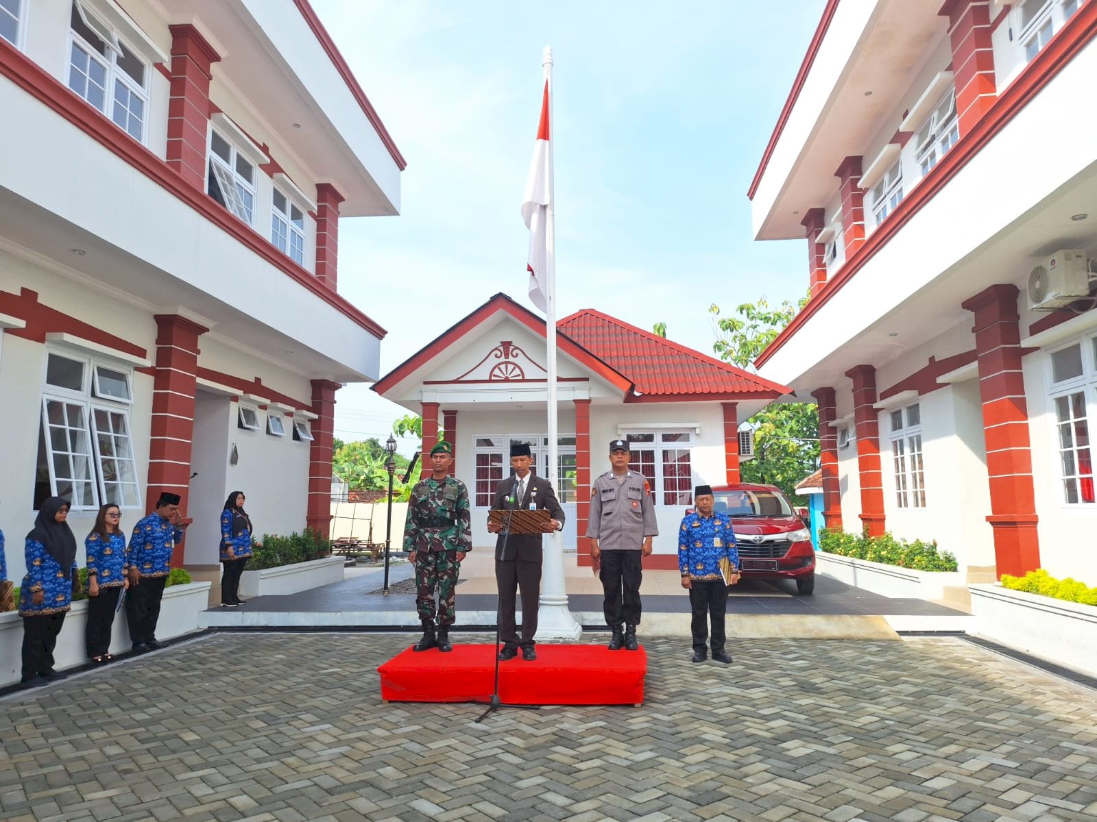
[[168, 28], [171, 32], [168, 165], [204, 192], [211, 66], [220, 60], [220, 55], [193, 25], [172, 25]]

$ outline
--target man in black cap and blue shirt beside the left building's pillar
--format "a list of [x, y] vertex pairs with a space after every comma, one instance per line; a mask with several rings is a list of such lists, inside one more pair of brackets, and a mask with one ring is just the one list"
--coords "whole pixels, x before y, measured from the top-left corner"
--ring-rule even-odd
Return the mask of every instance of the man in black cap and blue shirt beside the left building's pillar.
[[156, 511], [138, 520], [129, 538], [129, 591], [126, 593], [126, 621], [133, 649], [156, 649], [156, 623], [160, 618], [160, 598], [171, 573], [171, 553], [183, 538], [179, 494], [165, 491]]

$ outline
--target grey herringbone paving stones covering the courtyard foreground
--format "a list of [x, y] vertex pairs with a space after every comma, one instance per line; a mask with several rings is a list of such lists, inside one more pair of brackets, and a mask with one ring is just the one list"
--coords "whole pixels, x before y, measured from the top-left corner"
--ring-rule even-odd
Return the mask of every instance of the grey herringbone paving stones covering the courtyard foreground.
[[960, 639], [744, 641], [731, 666], [652, 639], [642, 707], [483, 724], [382, 704], [409, 641], [215, 635], [0, 699], [0, 819], [1097, 817], [1097, 693]]

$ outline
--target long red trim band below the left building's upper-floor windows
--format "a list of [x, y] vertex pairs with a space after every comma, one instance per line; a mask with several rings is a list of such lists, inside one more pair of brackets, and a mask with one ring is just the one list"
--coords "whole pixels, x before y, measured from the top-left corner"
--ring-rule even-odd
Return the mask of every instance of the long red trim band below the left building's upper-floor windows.
[[69, 91], [53, 75], [45, 71], [2, 37], [0, 37], [0, 76], [10, 79], [15, 85], [59, 114], [103, 148], [129, 163], [169, 194], [183, 201], [200, 215], [238, 240], [241, 246], [262, 258], [264, 262], [297, 281], [298, 284], [378, 340], [384, 339], [387, 333], [385, 329], [366, 317], [358, 307], [338, 293], [321, 285], [310, 272], [274, 248], [258, 231], [245, 226], [224, 206], [218, 205], [216, 201], [207, 196], [205, 192], [184, 181], [168, 163], [129, 137], [102, 113]]

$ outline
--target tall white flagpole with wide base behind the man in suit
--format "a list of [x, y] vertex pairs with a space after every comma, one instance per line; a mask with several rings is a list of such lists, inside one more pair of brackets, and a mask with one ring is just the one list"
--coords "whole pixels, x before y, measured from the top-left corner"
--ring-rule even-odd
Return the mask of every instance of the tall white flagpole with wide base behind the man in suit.
[[[552, 48], [545, 46], [541, 68], [548, 89], [548, 206], [545, 209], [545, 344], [547, 347], [548, 412], [548, 481], [557, 495], [559, 487], [559, 434], [556, 422], [556, 185], [553, 147], [556, 142], [556, 121], [553, 116]], [[583, 626], [567, 607], [567, 585], [564, 579], [564, 535], [554, 532], [546, 537], [542, 561], [541, 598], [538, 606], [538, 639], [578, 639]]]

